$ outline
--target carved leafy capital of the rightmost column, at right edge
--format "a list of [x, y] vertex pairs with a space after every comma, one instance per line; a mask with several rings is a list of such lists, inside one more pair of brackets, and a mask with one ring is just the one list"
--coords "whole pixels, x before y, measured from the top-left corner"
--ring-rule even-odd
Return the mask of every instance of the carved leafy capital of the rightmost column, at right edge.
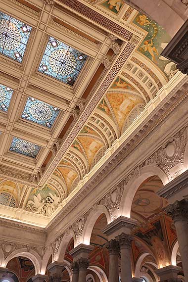
[[178, 220], [188, 220], [188, 198], [175, 201], [166, 207], [167, 214], [176, 222]]

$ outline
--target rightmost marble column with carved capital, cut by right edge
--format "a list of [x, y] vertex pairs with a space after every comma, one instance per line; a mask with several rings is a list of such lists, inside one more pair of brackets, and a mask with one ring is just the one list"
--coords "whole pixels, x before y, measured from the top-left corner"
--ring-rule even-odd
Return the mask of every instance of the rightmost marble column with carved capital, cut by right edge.
[[188, 198], [170, 204], [166, 212], [174, 220], [185, 281], [188, 282]]

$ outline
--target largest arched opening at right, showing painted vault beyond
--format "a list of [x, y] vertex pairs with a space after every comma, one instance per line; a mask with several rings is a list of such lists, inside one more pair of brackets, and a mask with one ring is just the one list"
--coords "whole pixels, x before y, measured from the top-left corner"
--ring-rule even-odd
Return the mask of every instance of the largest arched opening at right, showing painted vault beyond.
[[155, 270], [171, 264], [169, 244], [176, 237], [171, 231], [172, 221], [164, 211], [168, 202], [156, 193], [162, 187], [159, 176], [146, 178], [131, 206], [131, 218], [138, 221], [132, 230], [135, 277], [146, 282], [158, 281]]

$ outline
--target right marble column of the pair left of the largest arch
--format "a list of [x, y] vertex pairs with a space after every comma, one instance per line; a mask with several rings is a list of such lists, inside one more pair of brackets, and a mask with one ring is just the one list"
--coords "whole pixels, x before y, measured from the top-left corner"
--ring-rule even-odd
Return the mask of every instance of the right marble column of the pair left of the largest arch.
[[133, 241], [133, 237], [122, 233], [121, 235], [116, 236], [116, 240], [119, 241], [121, 252], [121, 281], [131, 282], [131, 242]]

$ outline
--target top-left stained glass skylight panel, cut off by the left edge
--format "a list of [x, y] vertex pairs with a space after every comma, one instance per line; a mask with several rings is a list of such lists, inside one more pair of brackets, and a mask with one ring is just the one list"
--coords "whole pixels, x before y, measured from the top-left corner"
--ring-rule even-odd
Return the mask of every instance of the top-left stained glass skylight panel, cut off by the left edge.
[[31, 26], [0, 12], [0, 53], [22, 62]]

